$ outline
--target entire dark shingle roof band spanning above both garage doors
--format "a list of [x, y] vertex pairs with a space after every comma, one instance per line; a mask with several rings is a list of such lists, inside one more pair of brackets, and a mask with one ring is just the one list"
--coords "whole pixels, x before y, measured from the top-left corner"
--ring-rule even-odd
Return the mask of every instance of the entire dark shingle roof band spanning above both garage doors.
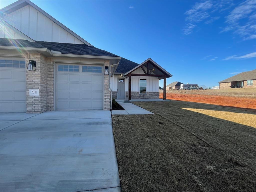
[[33, 48], [47, 48], [50, 51], [60, 51], [61, 54], [73, 54], [73, 55], [91, 55], [91, 56], [107, 56], [107, 57], [119, 57], [108, 51], [98, 49], [86, 44], [71, 44], [71, 43], [56, 43], [46, 41], [30, 42], [23, 39], [0, 39], [1, 46], [16, 46], [16, 47], [33, 47]]

